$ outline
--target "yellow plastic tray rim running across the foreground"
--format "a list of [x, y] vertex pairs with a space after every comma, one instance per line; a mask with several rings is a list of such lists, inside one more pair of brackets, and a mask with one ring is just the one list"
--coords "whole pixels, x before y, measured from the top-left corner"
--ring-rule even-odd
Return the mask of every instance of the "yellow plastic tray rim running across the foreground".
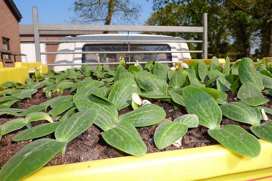
[[[258, 169], [272, 167], [272, 143], [259, 140], [261, 153], [256, 158], [247, 158], [227, 150], [222, 145], [173, 150], [146, 154], [139, 158], [119, 158], [87, 161], [74, 164], [43, 167], [24, 181], [39, 180], [237, 180], [260, 176]], [[271, 168], [265, 171], [272, 175]], [[242, 173], [240, 173], [242, 172]], [[256, 172], [256, 174], [255, 174]], [[230, 174], [226, 176], [227, 174]], [[264, 174], [262, 174], [263, 176]], [[221, 176], [221, 177], [220, 177]], [[224, 176], [224, 177], [222, 177]], [[217, 178], [218, 177], [218, 178]], [[223, 179], [224, 180], [224, 179]]]

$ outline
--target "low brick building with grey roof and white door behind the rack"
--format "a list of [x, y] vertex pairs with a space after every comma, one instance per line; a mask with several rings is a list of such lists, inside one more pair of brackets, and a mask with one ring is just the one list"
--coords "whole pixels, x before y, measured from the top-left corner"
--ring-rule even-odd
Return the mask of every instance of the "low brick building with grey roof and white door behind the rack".
[[[39, 31], [40, 40], [61, 40], [61, 38], [72, 36], [76, 37], [77, 35], [90, 35], [90, 34], [102, 34], [101, 31]], [[118, 33], [118, 32], [109, 32], [109, 33]], [[20, 43], [21, 43], [21, 51], [24, 54], [27, 54], [27, 62], [35, 62], [35, 46], [34, 46], [34, 29], [33, 25], [19, 25], [19, 34], [20, 34]], [[24, 46], [26, 44], [30, 45], [29, 47], [33, 47], [33, 50], [25, 51]], [[41, 43], [40, 44], [41, 52], [57, 52], [58, 43]], [[31, 52], [33, 53], [31, 53]], [[31, 55], [29, 55], [31, 54]], [[33, 60], [29, 58], [33, 57]], [[41, 61], [43, 64], [54, 64], [56, 55], [41, 55]], [[23, 60], [26, 61], [26, 60]]]

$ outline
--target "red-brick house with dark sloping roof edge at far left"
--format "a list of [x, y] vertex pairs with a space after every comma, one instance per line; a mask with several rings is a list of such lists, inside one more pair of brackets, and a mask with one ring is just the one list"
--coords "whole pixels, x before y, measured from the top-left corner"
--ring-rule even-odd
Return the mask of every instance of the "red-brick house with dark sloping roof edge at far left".
[[4, 67], [21, 62], [18, 22], [22, 15], [12, 0], [0, 0], [0, 61]]

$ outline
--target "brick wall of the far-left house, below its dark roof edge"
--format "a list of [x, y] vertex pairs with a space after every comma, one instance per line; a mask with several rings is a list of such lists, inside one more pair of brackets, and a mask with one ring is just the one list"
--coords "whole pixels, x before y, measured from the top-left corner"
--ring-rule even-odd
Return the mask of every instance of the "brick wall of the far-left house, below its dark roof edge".
[[[19, 25], [13, 13], [4, 0], [0, 0], [0, 48], [3, 48], [2, 37], [8, 38], [10, 50], [21, 53]], [[0, 61], [4, 67], [14, 67], [14, 56], [10, 55], [12, 62], [5, 62], [1, 56]], [[15, 56], [16, 62], [21, 62], [21, 56]]]

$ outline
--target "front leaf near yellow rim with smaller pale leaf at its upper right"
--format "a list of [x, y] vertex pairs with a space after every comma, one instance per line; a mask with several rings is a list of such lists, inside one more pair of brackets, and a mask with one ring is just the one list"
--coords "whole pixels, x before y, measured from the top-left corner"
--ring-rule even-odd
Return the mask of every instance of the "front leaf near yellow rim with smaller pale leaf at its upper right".
[[162, 122], [154, 133], [156, 147], [160, 150], [166, 148], [181, 138], [187, 130], [187, 126], [180, 123], [172, 121]]

